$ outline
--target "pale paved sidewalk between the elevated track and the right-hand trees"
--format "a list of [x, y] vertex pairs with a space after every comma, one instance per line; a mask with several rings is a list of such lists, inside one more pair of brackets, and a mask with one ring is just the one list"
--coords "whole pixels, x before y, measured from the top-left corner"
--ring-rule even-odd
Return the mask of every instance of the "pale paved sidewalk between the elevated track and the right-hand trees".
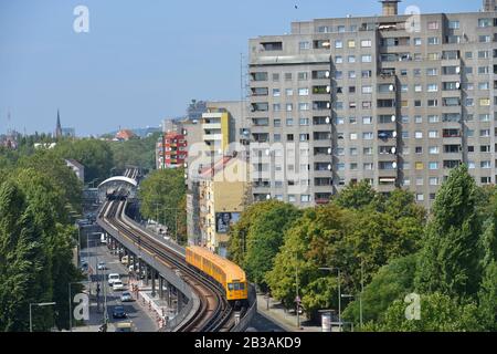
[[[267, 302], [269, 309], [267, 310]], [[320, 326], [309, 324], [305, 316], [300, 316], [300, 330], [297, 329], [297, 316], [286, 311], [282, 303], [264, 294], [257, 294], [257, 312], [269, 321], [273, 321], [287, 332], [321, 332]]]

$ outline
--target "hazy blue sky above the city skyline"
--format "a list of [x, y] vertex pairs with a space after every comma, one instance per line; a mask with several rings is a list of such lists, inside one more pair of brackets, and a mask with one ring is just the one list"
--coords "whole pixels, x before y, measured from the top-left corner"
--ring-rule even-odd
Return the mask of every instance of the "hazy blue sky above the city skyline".
[[[77, 6], [87, 33], [73, 29]], [[474, 12], [482, 1], [404, 0], [399, 11], [408, 6]], [[0, 0], [0, 134], [53, 132], [57, 108], [80, 136], [158, 126], [192, 98], [240, 100], [248, 39], [378, 13], [377, 0]]]

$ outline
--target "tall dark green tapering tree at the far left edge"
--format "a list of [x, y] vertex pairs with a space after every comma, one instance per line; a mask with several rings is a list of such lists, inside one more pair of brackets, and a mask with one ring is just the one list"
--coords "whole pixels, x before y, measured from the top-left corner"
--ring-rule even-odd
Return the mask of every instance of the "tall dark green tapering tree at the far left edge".
[[[42, 233], [24, 195], [11, 181], [0, 186], [0, 330], [28, 331], [29, 304], [50, 301]], [[33, 315], [35, 329], [53, 325], [52, 309]]]

